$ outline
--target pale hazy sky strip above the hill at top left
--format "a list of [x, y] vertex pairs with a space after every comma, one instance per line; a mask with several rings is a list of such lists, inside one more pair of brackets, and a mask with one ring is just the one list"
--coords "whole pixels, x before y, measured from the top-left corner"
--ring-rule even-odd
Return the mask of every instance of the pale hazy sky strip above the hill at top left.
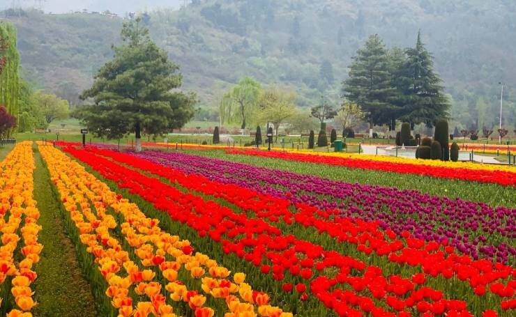
[[[186, 1], [189, 2], [188, 0]], [[156, 8], [179, 8], [185, 0], [0, 0], [0, 10], [13, 6], [35, 7], [52, 13], [67, 13], [82, 9], [109, 10], [123, 15], [127, 12]]]

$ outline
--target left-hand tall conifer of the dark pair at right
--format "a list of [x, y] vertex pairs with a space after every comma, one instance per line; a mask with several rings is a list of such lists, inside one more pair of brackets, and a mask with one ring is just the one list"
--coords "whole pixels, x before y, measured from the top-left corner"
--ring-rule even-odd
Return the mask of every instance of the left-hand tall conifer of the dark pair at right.
[[390, 118], [384, 114], [393, 107], [391, 100], [395, 95], [387, 50], [378, 34], [369, 37], [353, 61], [342, 92], [344, 98], [355, 102], [367, 113], [372, 137], [374, 124], [389, 123]]

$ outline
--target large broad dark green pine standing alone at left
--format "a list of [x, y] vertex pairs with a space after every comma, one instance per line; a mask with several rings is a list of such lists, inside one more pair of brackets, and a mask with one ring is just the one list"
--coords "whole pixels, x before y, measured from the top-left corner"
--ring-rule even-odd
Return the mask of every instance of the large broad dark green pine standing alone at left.
[[162, 134], [185, 125], [194, 114], [195, 95], [181, 87], [179, 66], [149, 37], [139, 18], [123, 24], [124, 45], [114, 48], [114, 58], [81, 95], [93, 104], [78, 116], [93, 134], [119, 139], [135, 133], [136, 150], [142, 150], [142, 132]]

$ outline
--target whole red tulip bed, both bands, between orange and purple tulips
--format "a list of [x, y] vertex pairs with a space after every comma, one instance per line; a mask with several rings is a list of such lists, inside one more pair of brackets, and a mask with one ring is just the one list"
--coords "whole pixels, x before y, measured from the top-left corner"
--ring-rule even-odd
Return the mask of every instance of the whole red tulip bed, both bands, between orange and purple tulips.
[[[119, 186], [128, 188], [152, 202], [156, 208], [166, 211], [175, 221], [192, 227], [200, 237], [219, 242], [222, 251], [234, 253], [253, 263], [266, 276], [272, 273], [273, 279], [282, 283], [284, 292], [289, 293], [295, 288], [301, 293], [300, 300], [306, 300], [310, 294], [304, 294], [308, 291], [306, 286], [310, 281], [311, 293], [340, 316], [349, 316], [359, 311], [384, 316], [390, 316], [395, 311], [467, 315], [470, 307], [477, 309], [476, 314], [480, 314], [482, 311], [478, 311], [478, 306], [473, 302], [477, 302], [477, 296], [483, 295], [485, 286], [491, 291], [487, 295], [490, 302], [483, 302], [483, 305], [497, 311], [512, 309], [514, 305], [514, 301], [510, 299], [515, 286], [512, 268], [500, 263], [492, 265], [488, 261], [472, 261], [468, 256], [456, 254], [453, 248], [444, 247], [446, 243], [425, 244], [406, 233], [403, 238], [399, 238], [392, 231], [382, 232], [378, 224], [355, 224], [349, 219], [342, 219], [342, 222], [337, 223], [325, 222], [324, 219], [329, 217], [331, 211], [298, 204], [297, 211], [291, 212], [289, 208], [293, 206], [289, 206], [288, 201], [283, 203], [280, 199], [257, 195], [256, 192], [234, 185], [233, 190], [230, 190], [230, 187], [221, 187], [221, 183], [210, 183], [199, 176], [187, 177], [172, 169], [145, 165], [139, 162], [142, 160], [134, 158], [132, 161], [124, 161], [126, 164], [132, 162], [132, 167], [166, 177], [184, 188], [192, 190], [195, 187], [196, 192], [234, 203], [251, 212], [246, 215], [221, 206], [208, 197], [203, 199], [195, 194], [185, 194], [157, 178], [144, 176], [95, 153], [75, 148], [65, 150], [106, 178], [116, 181]], [[106, 152], [109, 151], [98, 153], [108, 155]], [[119, 154], [113, 152], [108, 156], [115, 160], [121, 159]], [[252, 217], [253, 214], [255, 217]], [[323, 224], [324, 226], [319, 227], [322, 232], [335, 236], [342, 244], [356, 246], [353, 247], [354, 252], [349, 255], [341, 254], [317, 243], [299, 240], [297, 237], [300, 231], [296, 231], [296, 235], [284, 232], [289, 228], [284, 224], [289, 222], [296, 223], [292, 224], [292, 228]], [[372, 252], [383, 259], [379, 261], [381, 266], [368, 265], [361, 260], [370, 261], [369, 256], [364, 254], [369, 255]], [[425, 272], [409, 277], [400, 276], [400, 273], [406, 275], [407, 272], [414, 272], [407, 271], [407, 264], [424, 265], [423, 262], [412, 263], [413, 260], [417, 262], [421, 259], [427, 262]], [[388, 270], [384, 271], [383, 266]], [[435, 272], [430, 268], [432, 266]], [[492, 273], [486, 275], [484, 270]], [[449, 283], [436, 282], [441, 278], [437, 275], [442, 275], [444, 279], [458, 277], [469, 281], [468, 287], [474, 286], [476, 291], [473, 293], [473, 288], [469, 288], [461, 297], [468, 298], [471, 302], [446, 299], [442, 291], [429, 286]], [[487, 281], [487, 277], [494, 279]], [[490, 313], [491, 311], [487, 311], [485, 314]]]

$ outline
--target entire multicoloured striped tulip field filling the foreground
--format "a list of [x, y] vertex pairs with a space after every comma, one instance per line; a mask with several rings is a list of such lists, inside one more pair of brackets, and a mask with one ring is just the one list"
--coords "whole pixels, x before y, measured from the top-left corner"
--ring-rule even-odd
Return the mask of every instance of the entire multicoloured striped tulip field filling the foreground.
[[516, 315], [516, 167], [146, 145], [1, 160], [1, 316], [52, 316], [48, 214], [96, 316]]

